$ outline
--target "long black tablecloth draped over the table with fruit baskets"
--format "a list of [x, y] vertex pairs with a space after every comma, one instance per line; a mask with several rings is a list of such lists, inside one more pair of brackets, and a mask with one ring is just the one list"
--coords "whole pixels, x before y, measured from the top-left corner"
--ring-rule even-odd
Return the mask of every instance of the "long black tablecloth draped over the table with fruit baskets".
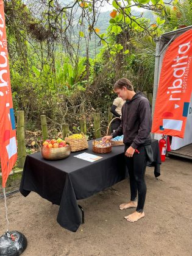
[[[127, 177], [124, 163], [124, 146], [115, 146], [111, 153], [96, 154], [91, 148], [74, 152], [63, 160], [44, 160], [41, 153], [27, 155], [20, 184], [20, 192], [27, 196], [30, 191], [38, 193], [53, 204], [60, 205], [57, 222], [60, 226], [76, 232], [81, 215], [77, 204], [84, 199], [108, 188]], [[160, 154], [158, 141], [152, 140], [155, 177], [160, 175]], [[96, 162], [87, 162], [74, 155], [87, 152], [102, 156]]]

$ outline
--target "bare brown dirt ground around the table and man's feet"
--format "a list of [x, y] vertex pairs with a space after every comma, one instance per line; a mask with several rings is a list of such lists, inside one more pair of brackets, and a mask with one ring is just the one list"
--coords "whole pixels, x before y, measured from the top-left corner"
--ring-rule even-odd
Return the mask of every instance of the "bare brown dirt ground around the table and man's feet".
[[[78, 255], [184, 255], [191, 256], [192, 162], [167, 158], [159, 180], [154, 168], [147, 168], [148, 193], [145, 218], [129, 223], [124, 216], [132, 209], [119, 210], [129, 199], [129, 184], [123, 180], [112, 188], [79, 201], [85, 210], [85, 224], [76, 233], [59, 226], [59, 206], [36, 193], [7, 197], [9, 230], [26, 235], [23, 256]], [[1, 199], [1, 225], [6, 230], [4, 199]]]

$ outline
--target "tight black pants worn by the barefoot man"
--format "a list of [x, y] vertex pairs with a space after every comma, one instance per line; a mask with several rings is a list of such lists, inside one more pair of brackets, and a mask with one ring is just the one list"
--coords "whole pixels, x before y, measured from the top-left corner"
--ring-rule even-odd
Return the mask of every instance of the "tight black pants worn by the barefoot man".
[[[126, 144], [125, 152], [129, 148], [130, 145]], [[144, 149], [144, 146], [138, 148], [139, 154], [135, 152], [133, 157], [126, 157], [126, 165], [129, 172], [129, 180], [130, 180], [130, 200], [137, 200], [138, 193], [138, 205], [137, 212], [143, 212], [144, 201], [146, 198], [147, 187], [144, 180], [144, 174], [146, 171], [147, 165], [147, 155]]]

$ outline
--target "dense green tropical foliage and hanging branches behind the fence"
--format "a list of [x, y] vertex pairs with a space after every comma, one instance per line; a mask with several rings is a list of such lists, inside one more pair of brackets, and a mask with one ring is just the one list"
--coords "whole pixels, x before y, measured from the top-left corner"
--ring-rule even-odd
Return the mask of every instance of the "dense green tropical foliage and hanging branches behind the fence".
[[152, 93], [154, 38], [192, 24], [191, 0], [113, 0], [105, 22], [102, 0], [25, 2], [4, 4], [14, 107], [30, 130], [44, 114], [51, 129], [68, 123], [78, 131], [85, 113], [92, 136], [93, 112], [107, 123], [115, 80], [129, 77], [135, 90]]

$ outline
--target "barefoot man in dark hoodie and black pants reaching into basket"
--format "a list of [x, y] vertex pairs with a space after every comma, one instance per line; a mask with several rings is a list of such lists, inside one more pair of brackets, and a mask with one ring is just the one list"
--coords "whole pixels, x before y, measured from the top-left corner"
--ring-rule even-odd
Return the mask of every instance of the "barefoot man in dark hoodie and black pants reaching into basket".
[[126, 78], [119, 79], [113, 90], [118, 97], [126, 100], [126, 103], [122, 108], [121, 125], [102, 140], [111, 140], [118, 135], [124, 135], [124, 152], [130, 179], [130, 201], [119, 205], [119, 209], [136, 208], [135, 212], [124, 217], [129, 222], [135, 222], [144, 217], [147, 191], [144, 174], [147, 159], [152, 154], [151, 105], [141, 92], [135, 93], [133, 85]]

